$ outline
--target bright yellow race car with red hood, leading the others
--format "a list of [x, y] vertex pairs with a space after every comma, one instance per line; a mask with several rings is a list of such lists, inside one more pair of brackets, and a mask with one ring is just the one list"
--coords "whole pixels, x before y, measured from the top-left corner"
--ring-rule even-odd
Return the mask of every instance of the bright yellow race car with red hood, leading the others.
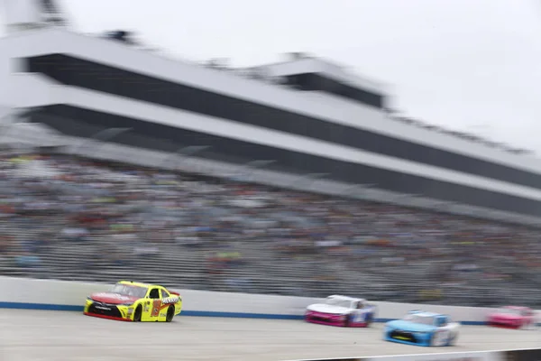
[[109, 292], [87, 297], [84, 314], [133, 322], [170, 322], [182, 310], [182, 297], [163, 286], [117, 282]]

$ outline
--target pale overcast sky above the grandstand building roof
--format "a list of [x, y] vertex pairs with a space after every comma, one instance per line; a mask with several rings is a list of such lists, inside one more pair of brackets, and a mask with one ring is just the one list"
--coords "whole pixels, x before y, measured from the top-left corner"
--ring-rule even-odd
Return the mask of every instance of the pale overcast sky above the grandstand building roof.
[[391, 106], [536, 149], [541, 0], [61, 0], [81, 32], [125, 29], [234, 66], [307, 51], [389, 85]]

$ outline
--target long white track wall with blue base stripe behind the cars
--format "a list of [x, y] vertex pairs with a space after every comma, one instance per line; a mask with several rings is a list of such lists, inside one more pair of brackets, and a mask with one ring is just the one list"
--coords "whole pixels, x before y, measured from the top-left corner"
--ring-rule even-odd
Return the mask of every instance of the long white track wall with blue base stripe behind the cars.
[[[104, 292], [104, 283], [83, 283], [0, 277], [0, 308], [33, 310], [82, 310], [87, 295]], [[215, 316], [258, 319], [302, 319], [307, 305], [321, 299], [261, 294], [172, 290], [182, 295], [184, 316]], [[493, 309], [441, 305], [417, 305], [374, 301], [376, 321], [399, 319], [408, 310], [422, 309], [450, 315], [464, 325], [484, 323]], [[538, 319], [541, 319], [538, 311]]]

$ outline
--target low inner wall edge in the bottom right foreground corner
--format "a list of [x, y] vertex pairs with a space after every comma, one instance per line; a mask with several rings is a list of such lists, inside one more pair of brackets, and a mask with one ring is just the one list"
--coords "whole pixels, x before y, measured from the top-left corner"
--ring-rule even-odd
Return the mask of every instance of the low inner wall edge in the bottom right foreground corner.
[[397, 356], [311, 358], [289, 361], [539, 361], [541, 348], [500, 351], [449, 352]]

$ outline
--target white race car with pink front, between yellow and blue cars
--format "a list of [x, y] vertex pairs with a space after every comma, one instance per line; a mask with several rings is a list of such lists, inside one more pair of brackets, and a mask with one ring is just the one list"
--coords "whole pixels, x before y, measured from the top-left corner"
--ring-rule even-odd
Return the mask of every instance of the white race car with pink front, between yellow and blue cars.
[[368, 327], [375, 318], [376, 306], [364, 299], [333, 295], [325, 303], [307, 307], [305, 320], [323, 325], [343, 327]]

